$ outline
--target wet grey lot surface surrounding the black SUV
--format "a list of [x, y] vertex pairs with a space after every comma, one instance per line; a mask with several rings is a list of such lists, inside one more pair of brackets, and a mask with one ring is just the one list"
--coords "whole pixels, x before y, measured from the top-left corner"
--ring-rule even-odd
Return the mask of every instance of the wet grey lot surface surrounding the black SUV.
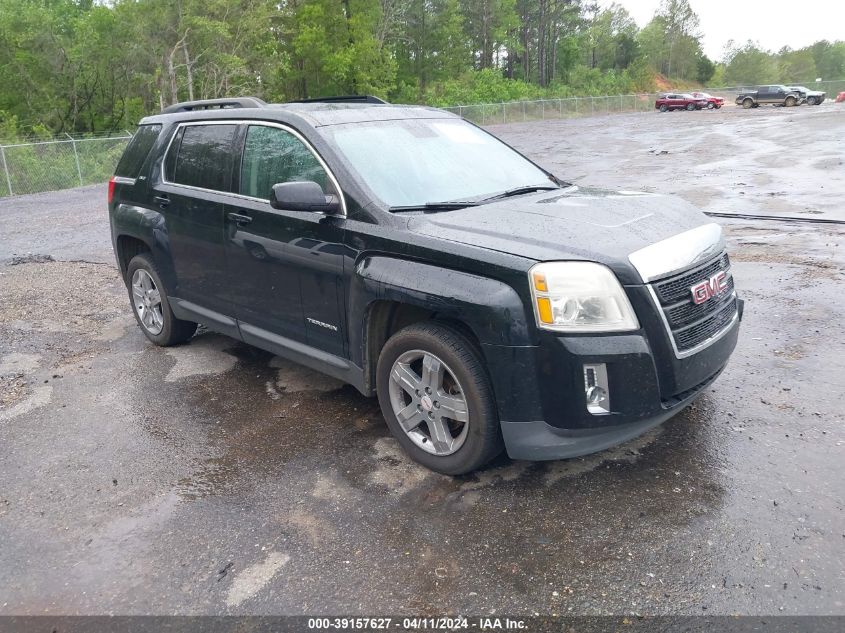
[[[845, 107], [491, 129], [577, 183], [845, 219]], [[0, 201], [0, 614], [845, 615], [842, 227], [723, 220], [739, 347], [661, 428], [449, 478], [351, 387], [149, 345], [104, 199]]]

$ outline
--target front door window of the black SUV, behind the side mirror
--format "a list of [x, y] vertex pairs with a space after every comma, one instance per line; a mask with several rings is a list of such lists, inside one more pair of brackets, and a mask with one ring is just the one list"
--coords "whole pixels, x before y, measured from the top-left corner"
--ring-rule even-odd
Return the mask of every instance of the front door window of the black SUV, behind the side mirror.
[[241, 163], [240, 193], [270, 199], [273, 185], [311, 180], [326, 191], [326, 171], [311, 150], [286, 130], [251, 125], [247, 130]]

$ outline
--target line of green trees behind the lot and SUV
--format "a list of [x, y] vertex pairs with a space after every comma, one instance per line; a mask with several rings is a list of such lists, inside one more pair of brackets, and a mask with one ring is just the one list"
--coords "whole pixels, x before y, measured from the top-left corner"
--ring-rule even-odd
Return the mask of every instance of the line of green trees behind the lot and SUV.
[[[0, 0], [0, 138], [121, 130], [182, 100], [454, 105], [845, 76], [845, 43], [722, 62], [688, 0]], [[686, 82], [686, 84], [685, 84]]]

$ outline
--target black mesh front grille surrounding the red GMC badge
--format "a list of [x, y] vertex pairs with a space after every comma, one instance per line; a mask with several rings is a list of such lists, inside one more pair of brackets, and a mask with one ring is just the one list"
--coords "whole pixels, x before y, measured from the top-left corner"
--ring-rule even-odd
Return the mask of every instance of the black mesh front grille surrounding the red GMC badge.
[[[679, 354], [693, 349], [721, 332], [737, 311], [730, 260], [722, 253], [695, 270], [685, 271], [652, 285], [658, 307], [663, 311], [669, 333]], [[695, 304], [690, 288], [724, 271], [727, 287], [719, 295]]]

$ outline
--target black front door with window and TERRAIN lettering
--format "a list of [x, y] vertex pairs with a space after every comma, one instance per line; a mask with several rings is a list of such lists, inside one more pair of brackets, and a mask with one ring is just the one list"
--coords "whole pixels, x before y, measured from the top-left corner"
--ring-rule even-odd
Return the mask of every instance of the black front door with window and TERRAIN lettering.
[[[237, 172], [242, 196], [226, 205], [226, 254], [239, 321], [345, 356], [342, 299], [344, 218], [273, 209], [274, 184], [333, 185], [321, 163], [281, 127], [250, 125]], [[339, 193], [339, 192], [337, 192]], [[232, 215], [235, 214], [235, 215]]]

